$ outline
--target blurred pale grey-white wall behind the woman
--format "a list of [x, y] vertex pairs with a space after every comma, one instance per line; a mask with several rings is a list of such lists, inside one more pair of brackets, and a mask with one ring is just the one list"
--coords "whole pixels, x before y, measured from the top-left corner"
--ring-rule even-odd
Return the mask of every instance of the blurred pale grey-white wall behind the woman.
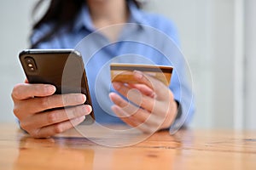
[[[45, 0], [46, 1], [46, 0]], [[24, 81], [18, 60], [28, 48], [35, 0], [0, 2], [0, 122], [15, 122], [11, 90]], [[179, 31], [193, 76], [191, 127], [256, 129], [256, 1], [148, 0]]]

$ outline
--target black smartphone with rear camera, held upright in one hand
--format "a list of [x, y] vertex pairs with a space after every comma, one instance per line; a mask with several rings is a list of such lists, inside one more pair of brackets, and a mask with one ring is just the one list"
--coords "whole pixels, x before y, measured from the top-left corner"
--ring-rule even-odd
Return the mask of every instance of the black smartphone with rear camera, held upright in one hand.
[[[85, 94], [85, 104], [92, 106], [84, 62], [78, 51], [25, 49], [19, 58], [29, 83], [52, 84], [56, 88], [55, 94]], [[92, 111], [82, 124], [91, 124], [94, 119]]]

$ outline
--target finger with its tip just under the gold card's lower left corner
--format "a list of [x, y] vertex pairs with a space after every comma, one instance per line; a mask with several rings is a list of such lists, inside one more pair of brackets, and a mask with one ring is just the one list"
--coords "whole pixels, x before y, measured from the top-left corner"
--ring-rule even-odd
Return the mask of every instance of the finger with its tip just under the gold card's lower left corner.
[[113, 88], [118, 91], [119, 94], [122, 94], [125, 98], [131, 100], [131, 102], [143, 107], [149, 112], [153, 111], [154, 105], [157, 102], [156, 99], [140, 93], [140, 91], [135, 88], [129, 88], [121, 82], [113, 82]]

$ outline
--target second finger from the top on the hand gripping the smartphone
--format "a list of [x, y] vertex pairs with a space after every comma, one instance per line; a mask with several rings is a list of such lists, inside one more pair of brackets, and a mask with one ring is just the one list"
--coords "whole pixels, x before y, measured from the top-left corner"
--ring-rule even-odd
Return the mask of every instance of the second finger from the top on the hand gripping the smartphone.
[[85, 100], [86, 97], [84, 94], [55, 94], [44, 98], [33, 98], [20, 102], [19, 108], [17, 108], [18, 111], [15, 112], [33, 115], [58, 107], [82, 105]]

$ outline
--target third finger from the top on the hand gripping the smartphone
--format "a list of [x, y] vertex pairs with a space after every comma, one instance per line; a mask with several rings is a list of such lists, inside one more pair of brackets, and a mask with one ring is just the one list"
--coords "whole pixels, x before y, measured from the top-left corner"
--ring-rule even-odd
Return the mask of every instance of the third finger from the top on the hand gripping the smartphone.
[[27, 118], [20, 126], [24, 129], [35, 129], [38, 127], [46, 127], [55, 123], [65, 122], [80, 116], [89, 115], [91, 112], [90, 105], [79, 105], [67, 109], [59, 109], [55, 111], [47, 111], [38, 113]]

